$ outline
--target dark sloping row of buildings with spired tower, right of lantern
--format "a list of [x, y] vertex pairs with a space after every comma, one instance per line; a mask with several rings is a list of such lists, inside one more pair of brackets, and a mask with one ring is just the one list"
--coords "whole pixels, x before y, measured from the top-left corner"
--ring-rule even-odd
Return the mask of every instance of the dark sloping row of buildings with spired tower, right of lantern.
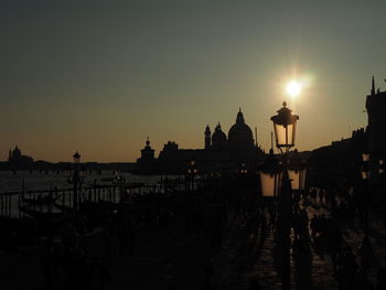
[[324, 175], [324, 183], [328, 179], [335, 183], [351, 176], [361, 179], [363, 153], [369, 154], [371, 181], [382, 181], [379, 169], [384, 169], [386, 161], [386, 92], [375, 89], [374, 76], [366, 96], [366, 128], [354, 130], [351, 138], [342, 138], [312, 151], [311, 163]]

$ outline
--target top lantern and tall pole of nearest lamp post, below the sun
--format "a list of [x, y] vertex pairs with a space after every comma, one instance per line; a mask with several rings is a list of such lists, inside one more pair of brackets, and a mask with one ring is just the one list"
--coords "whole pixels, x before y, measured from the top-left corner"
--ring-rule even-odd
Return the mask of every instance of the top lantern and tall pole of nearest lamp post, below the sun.
[[[281, 270], [281, 289], [290, 289], [291, 270], [290, 270], [290, 232], [292, 219], [292, 189], [291, 181], [289, 180], [287, 153], [291, 147], [294, 146], [297, 121], [299, 116], [292, 115], [292, 111], [287, 108], [287, 103], [282, 104], [282, 108], [277, 111], [276, 116], [270, 119], [274, 122], [274, 130], [276, 137], [276, 146], [281, 152], [281, 184], [279, 183], [278, 200], [279, 200], [279, 215], [278, 215], [278, 229], [281, 241], [282, 254], [282, 270]], [[285, 152], [283, 152], [285, 150]], [[280, 169], [280, 168], [279, 168]], [[299, 175], [300, 176], [300, 175]], [[300, 183], [298, 182], [300, 185]]]

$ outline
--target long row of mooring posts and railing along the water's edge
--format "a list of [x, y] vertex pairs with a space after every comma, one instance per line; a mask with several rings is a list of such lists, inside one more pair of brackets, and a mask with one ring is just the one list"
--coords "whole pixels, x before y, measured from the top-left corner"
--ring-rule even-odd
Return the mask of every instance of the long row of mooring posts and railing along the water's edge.
[[[74, 204], [84, 202], [120, 203], [130, 195], [168, 194], [175, 192], [196, 191], [202, 185], [203, 179], [193, 183], [189, 179], [168, 181], [162, 180], [157, 184], [143, 183], [114, 183], [114, 184], [87, 184], [74, 187], [51, 190], [25, 190], [24, 185], [18, 192], [0, 193], [0, 216], [21, 218], [28, 211], [39, 213], [54, 213], [64, 210], [74, 210]], [[125, 196], [124, 196], [125, 195]], [[74, 197], [77, 198], [74, 203]], [[24, 211], [23, 211], [24, 210]]]

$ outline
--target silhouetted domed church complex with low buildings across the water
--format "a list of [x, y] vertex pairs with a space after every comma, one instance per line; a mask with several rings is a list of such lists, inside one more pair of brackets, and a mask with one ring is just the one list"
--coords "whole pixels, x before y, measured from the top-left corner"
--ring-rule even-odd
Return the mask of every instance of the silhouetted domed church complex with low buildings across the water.
[[138, 173], [184, 173], [191, 161], [195, 161], [199, 172], [212, 173], [238, 171], [245, 164], [256, 168], [264, 152], [254, 141], [253, 132], [245, 123], [242, 110], [237, 112], [236, 122], [230, 127], [228, 136], [222, 130], [219, 122], [212, 135], [207, 125], [204, 130], [204, 149], [180, 149], [179, 144], [169, 141], [163, 146], [159, 158], [154, 158], [147, 142], [137, 160]]

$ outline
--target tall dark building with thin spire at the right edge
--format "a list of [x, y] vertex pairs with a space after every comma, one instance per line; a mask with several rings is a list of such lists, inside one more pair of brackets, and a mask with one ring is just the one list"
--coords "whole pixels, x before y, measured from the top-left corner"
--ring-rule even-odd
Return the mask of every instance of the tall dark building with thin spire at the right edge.
[[368, 153], [371, 176], [378, 175], [379, 162], [386, 161], [386, 92], [375, 92], [374, 76], [372, 89], [366, 97], [368, 117]]

